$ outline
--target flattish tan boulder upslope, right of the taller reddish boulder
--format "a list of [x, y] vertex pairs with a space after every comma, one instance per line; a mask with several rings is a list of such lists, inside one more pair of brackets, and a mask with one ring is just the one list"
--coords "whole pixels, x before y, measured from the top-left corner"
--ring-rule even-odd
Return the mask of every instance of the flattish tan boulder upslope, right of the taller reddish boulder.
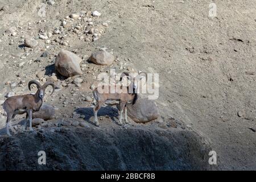
[[114, 60], [115, 57], [105, 50], [95, 52], [90, 56], [90, 61], [97, 65], [110, 65]]

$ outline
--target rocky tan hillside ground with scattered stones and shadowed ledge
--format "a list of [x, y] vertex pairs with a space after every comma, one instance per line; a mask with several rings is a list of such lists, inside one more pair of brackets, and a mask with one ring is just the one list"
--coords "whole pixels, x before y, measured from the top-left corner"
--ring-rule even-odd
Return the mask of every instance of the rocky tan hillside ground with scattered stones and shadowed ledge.
[[[209, 150], [217, 153], [218, 169], [255, 169], [254, 1], [216, 1], [215, 18], [209, 18], [209, 3], [0, 0], [0, 104], [31, 93], [32, 79], [56, 85], [45, 98], [55, 118], [36, 133], [6, 138], [0, 110], [0, 169], [215, 169]], [[82, 75], [56, 71], [63, 49], [81, 58]], [[88, 61], [100, 49], [114, 55], [111, 65]], [[92, 125], [92, 88], [110, 68], [159, 73], [158, 119], [119, 126], [118, 110], [104, 107], [100, 128]], [[15, 118], [17, 129], [22, 117]], [[146, 148], [134, 154], [135, 146]], [[50, 156], [46, 168], [34, 164], [41, 148]], [[117, 166], [114, 155], [123, 158]], [[100, 163], [106, 156], [111, 159]]]

